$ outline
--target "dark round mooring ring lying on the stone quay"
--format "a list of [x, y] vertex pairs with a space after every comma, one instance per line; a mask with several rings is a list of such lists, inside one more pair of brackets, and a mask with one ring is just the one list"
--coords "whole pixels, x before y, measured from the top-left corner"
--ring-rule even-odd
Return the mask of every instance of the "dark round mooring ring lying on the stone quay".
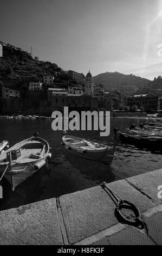
[[[126, 218], [124, 215], [121, 214], [121, 209], [124, 208], [124, 204], [127, 204], [127, 205], [131, 206], [132, 211], [135, 214], [134, 220], [131, 221], [128, 218]], [[138, 209], [138, 207], [135, 206], [134, 204], [128, 202], [127, 200], [123, 200], [123, 203], [121, 201], [118, 202], [118, 205], [116, 207], [116, 212], [121, 217], [121, 220], [124, 221], [125, 223], [129, 224], [129, 225], [138, 225], [137, 220], [139, 220], [141, 218], [141, 212]]]

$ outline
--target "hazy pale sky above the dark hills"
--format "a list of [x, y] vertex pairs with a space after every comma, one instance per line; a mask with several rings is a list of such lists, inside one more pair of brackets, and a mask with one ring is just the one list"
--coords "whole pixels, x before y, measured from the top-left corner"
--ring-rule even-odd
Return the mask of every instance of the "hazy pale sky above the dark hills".
[[1, 41], [64, 70], [162, 75], [162, 0], [0, 0], [0, 22]]

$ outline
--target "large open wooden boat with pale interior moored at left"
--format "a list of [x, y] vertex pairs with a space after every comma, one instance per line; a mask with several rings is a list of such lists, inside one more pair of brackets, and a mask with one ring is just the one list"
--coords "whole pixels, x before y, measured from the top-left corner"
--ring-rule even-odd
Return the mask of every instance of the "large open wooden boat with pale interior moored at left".
[[12, 190], [15, 190], [44, 166], [50, 156], [48, 142], [39, 137], [31, 137], [15, 144], [0, 156], [0, 172], [10, 182]]

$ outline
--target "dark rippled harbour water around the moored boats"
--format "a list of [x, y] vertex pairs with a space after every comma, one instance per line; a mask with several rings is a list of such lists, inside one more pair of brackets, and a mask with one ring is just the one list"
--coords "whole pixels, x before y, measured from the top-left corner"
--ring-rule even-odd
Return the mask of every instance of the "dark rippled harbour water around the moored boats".
[[[69, 131], [69, 134], [113, 144], [113, 127], [125, 129], [132, 123], [138, 125], [143, 121], [145, 119], [111, 118], [111, 134], [108, 137], [100, 137], [99, 131]], [[14, 145], [38, 131], [40, 137], [46, 139], [52, 148], [51, 163], [25, 180], [15, 192], [11, 191], [9, 183], [3, 179], [3, 199], [0, 199], [0, 210], [84, 190], [97, 186], [102, 181], [112, 182], [132, 176], [121, 166], [121, 163], [134, 175], [150, 172], [162, 166], [162, 157], [159, 152], [139, 149], [123, 142], [118, 144], [116, 150], [118, 159], [113, 160], [112, 166], [71, 156], [61, 147], [62, 132], [53, 131], [51, 123], [52, 120], [48, 119], [0, 120], [0, 141], [7, 139], [10, 145]]]

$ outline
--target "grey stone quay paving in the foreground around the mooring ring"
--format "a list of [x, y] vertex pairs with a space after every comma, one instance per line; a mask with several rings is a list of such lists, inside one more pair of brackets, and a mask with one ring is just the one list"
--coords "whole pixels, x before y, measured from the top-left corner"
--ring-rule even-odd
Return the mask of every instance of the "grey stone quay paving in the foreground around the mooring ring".
[[138, 206], [149, 235], [120, 223], [113, 200], [96, 186], [1, 211], [0, 245], [162, 245], [160, 185], [162, 169], [108, 184]]

